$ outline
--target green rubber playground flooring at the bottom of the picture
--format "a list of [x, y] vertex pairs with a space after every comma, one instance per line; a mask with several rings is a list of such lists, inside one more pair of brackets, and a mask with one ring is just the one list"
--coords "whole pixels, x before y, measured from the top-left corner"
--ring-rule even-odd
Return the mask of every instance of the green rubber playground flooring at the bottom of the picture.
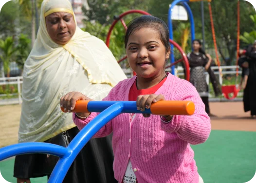
[[[256, 132], [213, 130], [205, 143], [191, 147], [204, 183], [248, 183], [256, 174]], [[13, 166], [14, 159], [0, 162], [5, 182], [16, 183]], [[47, 183], [47, 178], [31, 183]]]

